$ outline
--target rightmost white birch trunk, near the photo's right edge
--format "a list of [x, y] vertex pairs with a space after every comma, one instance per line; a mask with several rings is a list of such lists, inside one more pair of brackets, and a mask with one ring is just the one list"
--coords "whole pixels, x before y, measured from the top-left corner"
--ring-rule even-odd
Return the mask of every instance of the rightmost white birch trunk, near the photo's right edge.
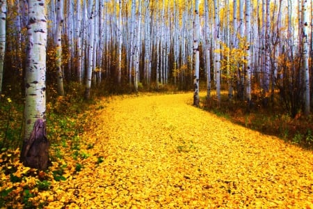
[[[312, 21], [312, 20], [311, 20]], [[309, 48], [309, 26], [310, 26], [310, 8], [308, 0], [303, 0], [302, 3], [302, 55], [303, 55], [303, 84], [304, 87], [304, 113], [305, 116], [310, 114], [310, 72], [309, 72], [309, 58], [310, 58], [310, 48]]]

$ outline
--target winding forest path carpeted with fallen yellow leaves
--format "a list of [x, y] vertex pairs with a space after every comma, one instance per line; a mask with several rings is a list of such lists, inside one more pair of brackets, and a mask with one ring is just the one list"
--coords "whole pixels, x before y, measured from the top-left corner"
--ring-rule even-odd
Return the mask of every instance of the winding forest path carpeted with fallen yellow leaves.
[[45, 174], [54, 176], [49, 189], [30, 190], [36, 195], [28, 201], [46, 208], [313, 208], [311, 150], [234, 125], [191, 99], [102, 100], [88, 113], [78, 162], [73, 150], [59, 150], [64, 157]]

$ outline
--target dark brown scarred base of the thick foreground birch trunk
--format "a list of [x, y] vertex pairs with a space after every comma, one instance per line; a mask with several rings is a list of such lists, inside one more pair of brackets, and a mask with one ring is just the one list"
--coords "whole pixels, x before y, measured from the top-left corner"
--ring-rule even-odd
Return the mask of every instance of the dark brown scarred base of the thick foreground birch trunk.
[[49, 141], [46, 122], [39, 118], [35, 121], [28, 140], [23, 141], [21, 161], [26, 167], [45, 170], [49, 161]]

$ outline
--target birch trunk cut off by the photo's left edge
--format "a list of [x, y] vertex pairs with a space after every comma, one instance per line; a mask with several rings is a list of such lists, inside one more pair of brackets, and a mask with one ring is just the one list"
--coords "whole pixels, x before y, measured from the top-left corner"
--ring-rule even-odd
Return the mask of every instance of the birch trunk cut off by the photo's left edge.
[[0, 0], [0, 96], [2, 92], [3, 63], [6, 52], [6, 0]]

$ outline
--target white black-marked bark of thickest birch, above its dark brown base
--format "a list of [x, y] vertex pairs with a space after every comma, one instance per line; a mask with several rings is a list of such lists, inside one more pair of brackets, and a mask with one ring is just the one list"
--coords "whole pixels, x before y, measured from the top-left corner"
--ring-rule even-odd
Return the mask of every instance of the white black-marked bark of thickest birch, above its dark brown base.
[[46, 120], [47, 17], [45, 0], [29, 0], [25, 78], [24, 140], [29, 139], [35, 121]]

